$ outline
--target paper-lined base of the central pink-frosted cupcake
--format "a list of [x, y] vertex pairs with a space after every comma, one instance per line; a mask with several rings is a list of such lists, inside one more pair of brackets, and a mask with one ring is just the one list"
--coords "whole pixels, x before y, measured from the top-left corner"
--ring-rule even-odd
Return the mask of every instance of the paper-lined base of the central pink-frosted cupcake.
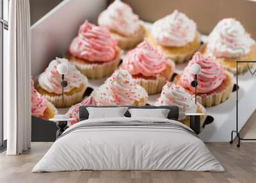
[[134, 78], [135, 83], [140, 84], [148, 93], [148, 95], [154, 95], [160, 93], [163, 89], [164, 84], [170, 81], [173, 76], [175, 64], [173, 61], [168, 62], [170, 66], [170, 73], [168, 76], [161, 76], [160, 74], [156, 76], [156, 79], [144, 79], [142, 77]]

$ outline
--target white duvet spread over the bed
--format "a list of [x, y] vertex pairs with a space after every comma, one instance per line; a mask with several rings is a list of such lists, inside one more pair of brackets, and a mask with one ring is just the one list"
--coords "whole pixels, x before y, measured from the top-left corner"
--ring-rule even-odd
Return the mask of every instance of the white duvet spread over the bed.
[[[57, 139], [32, 172], [72, 170], [224, 171], [209, 149], [193, 134], [168, 127], [91, 127], [93, 122], [171, 122], [163, 118], [84, 120]], [[188, 127], [187, 127], [188, 128]], [[76, 129], [72, 131], [72, 129]]]

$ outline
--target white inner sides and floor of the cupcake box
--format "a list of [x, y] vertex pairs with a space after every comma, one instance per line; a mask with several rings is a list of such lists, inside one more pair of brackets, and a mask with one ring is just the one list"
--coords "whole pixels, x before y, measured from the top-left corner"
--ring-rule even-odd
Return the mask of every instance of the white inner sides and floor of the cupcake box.
[[[31, 26], [31, 76], [38, 76], [56, 56], [62, 57], [79, 25], [88, 19], [96, 22], [107, 6], [105, 0], [66, 0]], [[178, 67], [178, 72], [183, 66]], [[239, 130], [255, 111], [255, 76], [246, 73], [239, 76]], [[90, 81], [96, 87], [104, 80]], [[154, 101], [157, 95], [150, 96]], [[207, 113], [214, 116], [214, 122], [206, 125], [200, 138], [204, 141], [230, 141], [230, 132], [236, 129], [236, 92], [230, 99], [214, 107], [207, 107]]]

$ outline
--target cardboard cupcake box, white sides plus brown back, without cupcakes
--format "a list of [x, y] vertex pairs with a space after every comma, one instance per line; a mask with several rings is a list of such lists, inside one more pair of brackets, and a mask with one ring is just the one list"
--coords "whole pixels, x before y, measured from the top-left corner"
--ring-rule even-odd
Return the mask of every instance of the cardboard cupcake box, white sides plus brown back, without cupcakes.
[[[195, 20], [201, 33], [208, 34], [219, 20], [235, 17], [256, 38], [256, 2], [246, 0], [140, 0], [126, 1], [142, 20], [154, 22], [178, 9]], [[38, 76], [56, 56], [63, 56], [79, 25], [85, 19], [97, 22], [97, 17], [108, 5], [102, 0], [65, 0], [31, 27], [31, 70]], [[179, 66], [180, 67], [180, 66]], [[183, 65], [184, 67], [184, 65]], [[256, 79], [249, 73], [239, 76], [239, 130], [255, 111]], [[157, 96], [151, 96], [156, 98]], [[214, 122], [200, 134], [204, 141], [230, 141], [230, 132], [236, 129], [236, 93], [223, 104], [207, 107]]]

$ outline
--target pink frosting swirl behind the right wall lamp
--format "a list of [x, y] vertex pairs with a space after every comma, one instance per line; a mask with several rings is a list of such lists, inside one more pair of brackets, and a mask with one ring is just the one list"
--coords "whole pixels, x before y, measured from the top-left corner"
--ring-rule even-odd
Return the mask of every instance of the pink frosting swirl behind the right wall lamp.
[[197, 76], [198, 86], [196, 87], [196, 92], [198, 93], [211, 92], [218, 88], [226, 78], [226, 74], [220, 65], [215, 63], [211, 58], [204, 58], [200, 52], [196, 52], [180, 77], [180, 84], [184, 88], [189, 88], [191, 92], [195, 92], [195, 88], [191, 86], [191, 82], [194, 80], [194, 74], [190, 71], [194, 63], [198, 63], [201, 66], [201, 70]]

